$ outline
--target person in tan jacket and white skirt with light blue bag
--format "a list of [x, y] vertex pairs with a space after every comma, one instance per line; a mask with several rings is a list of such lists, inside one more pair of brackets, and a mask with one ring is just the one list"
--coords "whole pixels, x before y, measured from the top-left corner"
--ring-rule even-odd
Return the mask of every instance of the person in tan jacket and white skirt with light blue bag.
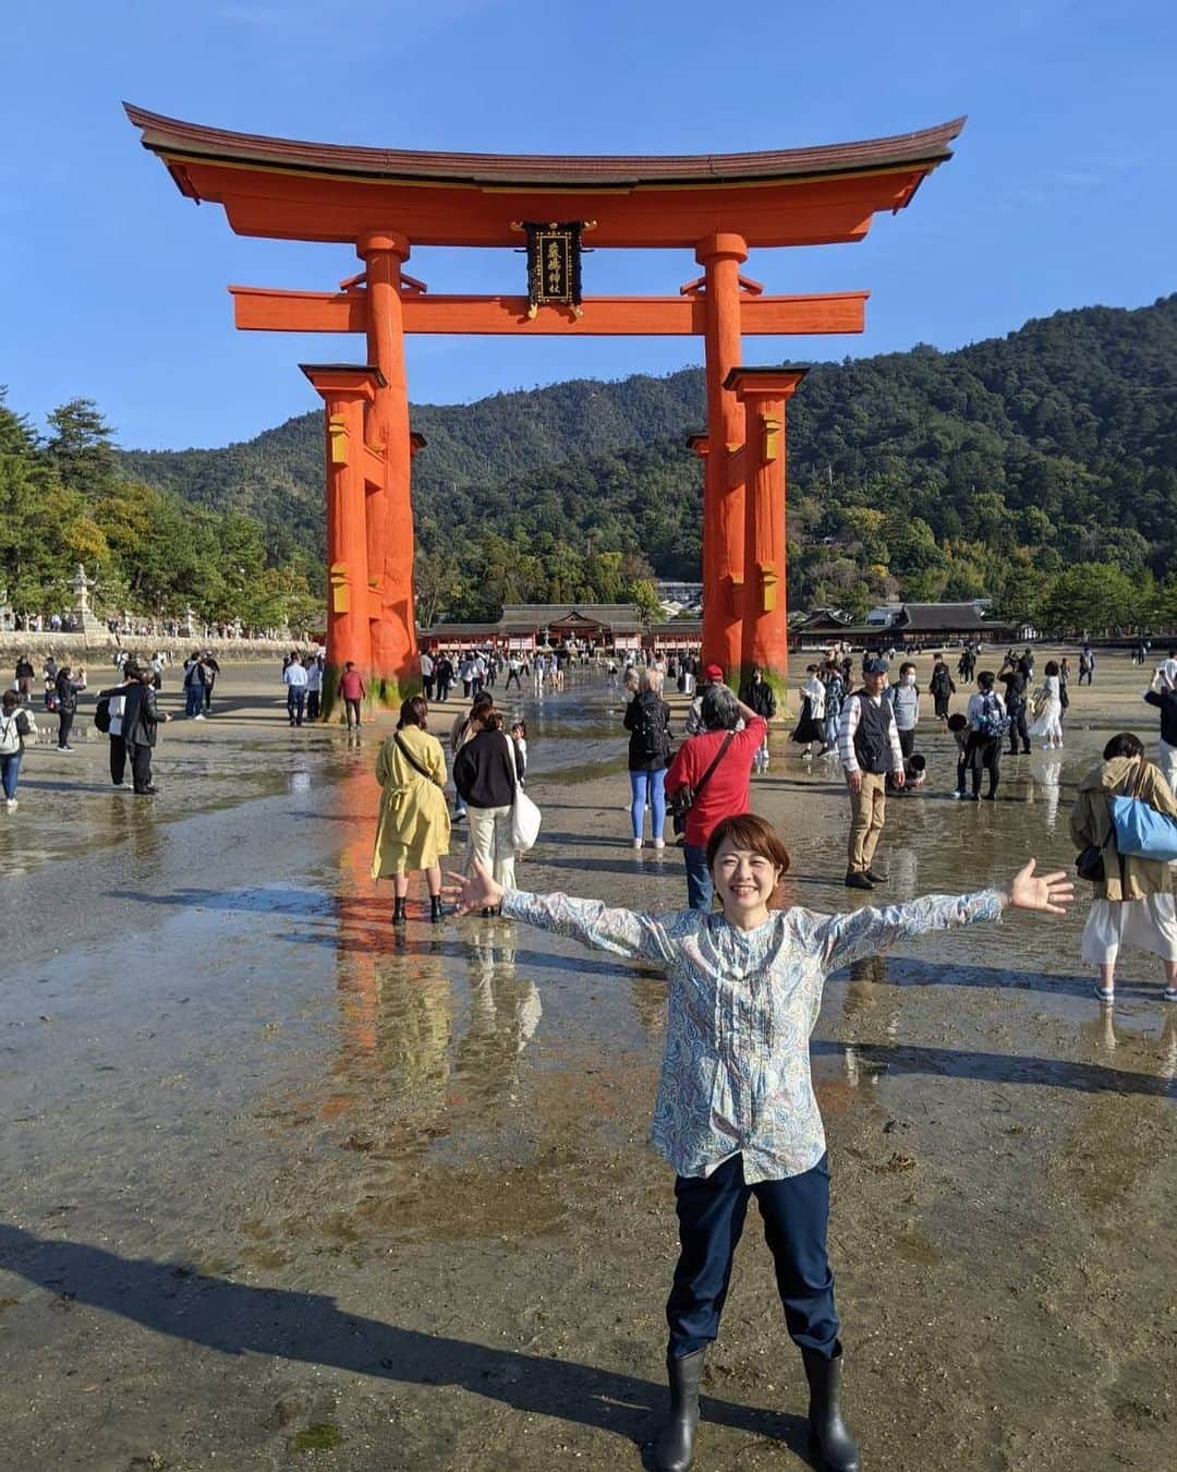
[[1071, 811], [1071, 838], [1081, 849], [1078, 873], [1095, 886], [1080, 958], [1099, 969], [1100, 1002], [1115, 1001], [1123, 946], [1161, 957], [1165, 1001], [1177, 1002], [1173, 877], [1167, 858], [1148, 857], [1168, 852], [1164, 845], [1177, 832], [1174, 820], [1177, 798], [1161, 768], [1145, 760], [1139, 737], [1112, 736], [1103, 761], [1080, 782]]

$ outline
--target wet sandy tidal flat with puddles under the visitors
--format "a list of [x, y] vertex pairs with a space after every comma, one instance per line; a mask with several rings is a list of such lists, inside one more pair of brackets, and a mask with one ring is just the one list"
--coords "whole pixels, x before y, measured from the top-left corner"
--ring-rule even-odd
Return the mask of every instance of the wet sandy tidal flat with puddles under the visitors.
[[[1031, 852], [1070, 868], [1099, 748], [1155, 745], [1146, 677], [1109, 657], [1098, 682], [1073, 686], [1062, 760], [1006, 758], [996, 804], [950, 801], [925, 720], [931, 782], [889, 804], [877, 899]], [[213, 720], [163, 729], [153, 802], [110, 790], [100, 737], [38, 748], [0, 820], [0, 1466], [639, 1468], [677, 1242], [646, 1144], [662, 982], [502, 920], [431, 927], [419, 894], [394, 939], [368, 877], [390, 723], [294, 732], [280, 695], [227, 671]], [[628, 848], [615, 692], [509, 704], [544, 813], [519, 883], [683, 905], [681, 855]], [[753, 801], [793, 851], [789, 901], [850, 908], [837, 765], [772, 742]], [[827, 986], [867, 1468], [1174, 1465], [1177, 1008], [1159, 961], [1126, 957], [1100, 1014], [1084, 910]], [[806, 1466], [803, 1412], [753, 1213], [697, 1468]]]

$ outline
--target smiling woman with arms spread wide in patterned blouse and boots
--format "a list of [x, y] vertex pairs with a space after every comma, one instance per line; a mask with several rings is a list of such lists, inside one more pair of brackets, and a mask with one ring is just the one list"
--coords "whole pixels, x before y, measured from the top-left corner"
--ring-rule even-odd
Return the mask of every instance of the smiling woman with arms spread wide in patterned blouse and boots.
[[814, 1097], [809, 1035], [825, 976], [856, 955], [1002, 910], [1064, 914], [1073, 885], [1037, 876], [1033, 860], [1002, 889], [928, 895], [886, 910], [822, 916], [772, 911], [789, 854], [764, 818], [724, 818], [706, 846], [722, 913], [653, 916], [599, 899], [503, 889], [477, 864], [449, 894], [463, 911], [505, 917], [661, 966], [669, 983], [653, 1144], [674, 1167], [681, 1253], [666, 1304], [671, 1416], [655, 1466], [683, 1472], [694, 1454], [703, 1356], [719, 1331], [749, 1198], [756, 1197], [777, 1266], [786, 1322], [809, 1381], [814, 1450], [855, 1472], [842, 1419], [842, 1344], [825, 1250], [830, 1173]]

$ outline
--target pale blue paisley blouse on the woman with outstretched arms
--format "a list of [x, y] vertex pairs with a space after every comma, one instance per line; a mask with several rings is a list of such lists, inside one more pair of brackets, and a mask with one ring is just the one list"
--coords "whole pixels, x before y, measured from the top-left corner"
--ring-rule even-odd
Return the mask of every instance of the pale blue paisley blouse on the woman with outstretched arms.
[[503, 895], [512, 920], [665, 969], [653, 1147], [680, 1176], [709, 1176], [743, 1154], [749, 1182], [800, 1175], [825, 1153], [809, 1035], [827, 973], [896, 941], [998, 920], [1002, 905], [984, 889], [840, 916], [780, 910], [739, 930], [699, 910], [652, 916], [561, 894]]

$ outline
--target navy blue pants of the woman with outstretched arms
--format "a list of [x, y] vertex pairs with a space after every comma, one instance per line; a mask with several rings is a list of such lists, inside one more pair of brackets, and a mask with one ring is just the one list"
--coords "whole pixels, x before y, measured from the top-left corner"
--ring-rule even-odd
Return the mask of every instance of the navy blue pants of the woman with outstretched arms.
[[744, 1181], [743, 1156], [733, 1156], [709, 1176], [678, 1176], [678, 1266], [666, 1301], [671, 1337], [666, 1353], [681, 1359], [705, 1348], [719, 1332], [731, 1284], [731, 1263], [744, 1229], [749, 1197], [756, 1197], [764, 1238], [777, 1266], [777, 1291], [793, 1342], [827, 1359], [837, 1353], [834, 1275], [825, 1256], [830, 1217], [827, 1157], [784, 1181]]

